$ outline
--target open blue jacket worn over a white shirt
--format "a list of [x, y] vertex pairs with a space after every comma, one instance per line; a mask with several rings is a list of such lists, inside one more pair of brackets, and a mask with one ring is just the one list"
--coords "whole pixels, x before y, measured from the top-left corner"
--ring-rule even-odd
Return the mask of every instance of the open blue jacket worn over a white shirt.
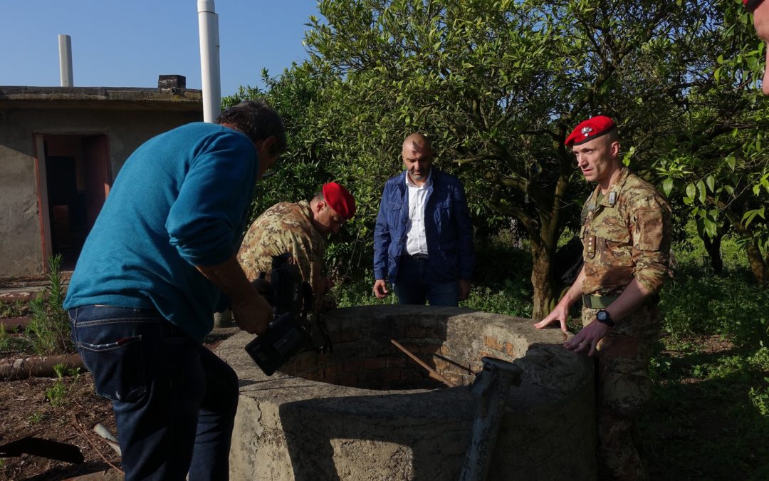
[[[428, 272], [434, 282], [470, 280], [475, 266], [473, 226], [459, 179], [431, 168], [432, 185], [424, 207]], [[394, 282], [404, 252], [408, 219], [406, 171], [384, 184], [374, 230], [374, 276]]]

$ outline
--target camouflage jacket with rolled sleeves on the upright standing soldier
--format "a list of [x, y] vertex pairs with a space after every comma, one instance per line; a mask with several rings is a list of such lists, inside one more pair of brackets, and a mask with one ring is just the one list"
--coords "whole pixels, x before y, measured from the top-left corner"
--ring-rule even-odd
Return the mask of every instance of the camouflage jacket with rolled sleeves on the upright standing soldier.
[[622, 169], [600, 200], [582, 209], [584, 294], [617, 296], [632, 279], [659, 292], [669, 274], [671, 209], [654, 186]]

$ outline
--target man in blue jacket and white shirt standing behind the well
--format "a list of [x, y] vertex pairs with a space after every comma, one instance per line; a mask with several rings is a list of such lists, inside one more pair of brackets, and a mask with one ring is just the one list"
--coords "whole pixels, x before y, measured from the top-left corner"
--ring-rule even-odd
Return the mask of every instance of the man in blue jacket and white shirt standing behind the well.
[[374, 295], [393, 283], [401, 304], [457, 306], [468, 298], [475, 265], [473, 226], [464, 186], [432, 169], [422, 134], [403, 142], [406, 168], [384, 185], [374, 231]]

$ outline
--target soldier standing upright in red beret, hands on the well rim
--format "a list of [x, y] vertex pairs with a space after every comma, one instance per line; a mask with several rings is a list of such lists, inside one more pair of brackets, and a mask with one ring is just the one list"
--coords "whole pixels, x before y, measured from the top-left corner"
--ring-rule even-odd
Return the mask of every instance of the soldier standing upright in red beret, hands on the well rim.
[[584, 266], [574, 285], [535, 326], [559, 321], [581, 299], [583, 329], [566, 349], [594, 356], [600, 479], [647, 479], [635, 419], [649, 399], [649, 359], [660, 333], [657, 292], [669, 275], [671, 209], [654, 186], [621, 165], [614, 122], [582, 122], [566, 145], [589, 182], [582, 212]]

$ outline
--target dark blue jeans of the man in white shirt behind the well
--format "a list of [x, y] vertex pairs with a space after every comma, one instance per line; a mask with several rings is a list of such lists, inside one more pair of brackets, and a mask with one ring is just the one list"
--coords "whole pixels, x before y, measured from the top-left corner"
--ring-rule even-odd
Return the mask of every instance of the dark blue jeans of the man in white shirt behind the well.
[[458, 306], [459, 285], [457, 280], [434, 282], [427, 279], [426, 261], [415, 261], [409, 256], [401, 256], [398, 261], [398, 276], [393, 282], [393, 289], [398, 295], [399, 304], [421, 304], [430, 302], [430, 306]]

